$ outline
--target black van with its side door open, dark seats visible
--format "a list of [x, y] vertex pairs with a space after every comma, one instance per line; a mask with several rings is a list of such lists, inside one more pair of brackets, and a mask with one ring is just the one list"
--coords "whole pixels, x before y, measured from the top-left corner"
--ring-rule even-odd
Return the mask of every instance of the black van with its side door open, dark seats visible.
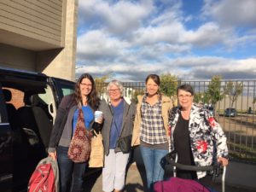
[[49, 134], [61, 98], [74, 82], [0, 68], [0, 190], [26, 191], [38, 161], [47, 153]]

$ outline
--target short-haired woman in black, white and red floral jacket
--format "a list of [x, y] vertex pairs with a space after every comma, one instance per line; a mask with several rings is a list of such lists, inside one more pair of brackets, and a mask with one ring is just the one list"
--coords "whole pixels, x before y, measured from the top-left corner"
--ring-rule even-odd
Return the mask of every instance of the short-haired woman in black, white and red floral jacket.
[[[189, 84], [177, 88], [179, 107], [172, 108], [169, 117], [171, 152], [177, 152], [177, 162], [190, 166], [211, 166], [217, 158], [228, 165], [228, 148], [224, 131], [209, 111], [193, 102], [194, 90]], [[177, 177], [202, 179], [206, 172], [177, 171]]]

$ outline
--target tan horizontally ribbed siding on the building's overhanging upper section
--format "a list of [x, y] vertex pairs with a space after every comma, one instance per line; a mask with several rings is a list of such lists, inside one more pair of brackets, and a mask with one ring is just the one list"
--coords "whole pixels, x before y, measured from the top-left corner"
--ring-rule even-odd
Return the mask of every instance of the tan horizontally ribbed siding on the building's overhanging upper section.
[[0, 28], [9, 25], [10, 32], [21, 30], [22, 35], [61, 45], [62, 1], [56, 2], [0, 0]]

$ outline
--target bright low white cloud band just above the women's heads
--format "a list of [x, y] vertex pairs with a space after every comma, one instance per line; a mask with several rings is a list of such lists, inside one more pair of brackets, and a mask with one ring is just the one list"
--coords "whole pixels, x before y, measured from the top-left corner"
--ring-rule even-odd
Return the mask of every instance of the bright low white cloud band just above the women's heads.
[[221, 57], [205, 56], [178, 58], [154, 64], [124, 65], [123, 63], [104, 63], [104, 65], [98, 64], [78, 69], [78, 73], [83, 72], [96, 76], [110, 73], [113, 73], [113, 75], [124, 74], [130, 79], [119, 79], [125, 81], [143, 81], [148, 73], [172, 73], [183, 80], [211, 79], [212, 75], [222, 75], [224, 79], [234, 79], [234, 77], [231, 78], [232, 74], [236, 74], [236, 79], [253, 79], [256, 73], [256, 58], [236, 61]]

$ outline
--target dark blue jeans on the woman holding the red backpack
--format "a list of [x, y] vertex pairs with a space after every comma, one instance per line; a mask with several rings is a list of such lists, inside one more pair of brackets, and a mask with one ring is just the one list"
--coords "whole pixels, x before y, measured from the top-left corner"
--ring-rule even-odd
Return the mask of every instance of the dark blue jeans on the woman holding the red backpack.
[[57, 147], [61, 192], [80, 192], [84, 181], [86, 163], [74, 163], [67, 157], [67, 147]]

